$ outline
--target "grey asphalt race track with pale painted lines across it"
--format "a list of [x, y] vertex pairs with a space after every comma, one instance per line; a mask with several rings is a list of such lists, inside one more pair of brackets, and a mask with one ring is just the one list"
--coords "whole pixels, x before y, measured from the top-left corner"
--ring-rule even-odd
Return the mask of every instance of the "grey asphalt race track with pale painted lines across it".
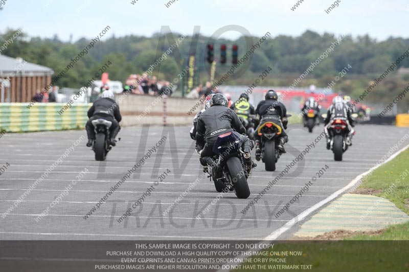
[[[264, 165], [260, 162], [248, 180], [252, 192], [249, 199], [239, 200], [234, 192], [229, 192], [223, 197], [219, 196], [215, 205], [210, 204], [218, 193], [207, 177], [182, 195], [189, 183], [201, 175], [189, 129], [187, 126], [166, 127], [165, 131], [163, 127], [153, 126], [124, 128], [120, 132], [122, 140], [108, 154], [106, 163], [95, 161], [93, 151], [85, 146], [85, 138], [74, 151], [70, 150], [81, 135], [85, 135], [85, 131], [5, 135], [0, 139], [0, 165], [9, 163], [10, 166], [0, 175], [0, 239], [262, 239], [373, 167], [399, 141], [399, 150], [409, 144], [409, 138], [401, 140], [409, 133], [407, 128], [356, 126], [353, 146], [344, 154], [342, 162], [335, 162], [332, 152], [325, 149], [323, 138], [256, 205], [242, 214], [242, 209], [266, 184], [286, 164], [291, 163], [307, 144], [314, 142], [323, 130], [322, 125], [315, 128], [312, 134], [299, 125], [290, 126], [287, 154], [279, 160], [276, 172], [264, 171]], [[160, 148], [107, 198], [106, 203], [84, 219], [86, 213], [111, 190], [111, 186], [117, 184], [163, 135], [167, 139]], [[48, 177], [3, 218], [2, 214], [64, 152], [69, 155], [60, 160]], [[329, 169], [324, 175], [316, 179], [299, 201], [290, 205], [288, 212], [277, 218], [275, 214], [325, 165]], [[83, 178], [67, 190], [66, 195], [61, 194], [81, 171], [86, 171], [85, 168], [88, 171]], [[161, 182], [157, 177], [167, 169], [171, 174]], [[155, 181], [159, 183], [154, 185]], [[150, 186], [154, 189], [147, 195]], [[119, 223], [117, 219], [144, 193], [143, 204]], [[37, 222], [39, 214], [59, 195], [62, 197], [50, 209], [49, 215]], [[179, 195], [182, 197], [177, 201]], [[163, 216], [163, 212], [174, 202], [179, 203]], [[208, 205], [210, 209], [203, 218], [196, 218]], [[294, 226], [280, 239], [287, 238], [297, 228], [297, 225]]]

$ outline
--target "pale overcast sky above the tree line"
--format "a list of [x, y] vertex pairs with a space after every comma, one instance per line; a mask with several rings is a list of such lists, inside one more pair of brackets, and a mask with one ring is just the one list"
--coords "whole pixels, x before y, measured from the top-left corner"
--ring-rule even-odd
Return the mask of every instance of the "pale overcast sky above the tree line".
[[[173, 32], [192, 35], [193, 26], [210, 36], [216, 30], [237, 24], [251, 34], [270, 32], [298, 36], [306, 30], [358, 35], [369, 34], [378, 40], [390, 36], [409, 38], [409, 1], [407, 0], [338, 0], [339, 6], [327, 14], [331, 0], [304, 0], [295, 10], [297, 0], [178, 0], [169, 8], [169, 0], [7, 0], [0, 11], [0, 32], [22, 28], [30, 36], [62, 40], [93, 38], [105, 28], [116, 37], [135, 34], [151, 36], [161, 26]], [[119, 3], [121, 2], [121, 3]], [[237, 38], [238, 32], [223, 37]]]

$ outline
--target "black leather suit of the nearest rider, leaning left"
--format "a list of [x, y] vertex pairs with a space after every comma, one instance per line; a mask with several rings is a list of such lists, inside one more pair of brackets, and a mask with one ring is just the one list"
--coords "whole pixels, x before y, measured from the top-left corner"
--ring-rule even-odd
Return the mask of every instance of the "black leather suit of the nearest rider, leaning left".
[[243, 139], [244, 152], [250, 153], [253, 149], [252, 140], [245, 134], [246, 130], [237, 114], [224, 106], [212, 106], [202, 112], [197, 120], [196, 145], [204, 146], [200, 154], [200, 163], [203, 166], [213, 163], [213, 146], [220, 134], [234, 132]]

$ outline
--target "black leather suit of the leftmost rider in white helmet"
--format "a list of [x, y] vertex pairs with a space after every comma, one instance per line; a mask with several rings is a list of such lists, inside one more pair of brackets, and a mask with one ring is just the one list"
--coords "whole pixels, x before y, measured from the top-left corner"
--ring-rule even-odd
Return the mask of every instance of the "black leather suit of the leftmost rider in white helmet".
[[89, 120], [85, 125], [88, 139], [95, 138], [95, 130], [92, 121], [96, 119], [105, 119], [112, 122], [112, 126], [109, 128], [109, 138], [115, 138], [121, 129], [119, 122], [122, 120], [122, 116], [119, 111], [119, 105], [111, 98], [98, 98], [93, 106], [89, 108], [88, 118]]

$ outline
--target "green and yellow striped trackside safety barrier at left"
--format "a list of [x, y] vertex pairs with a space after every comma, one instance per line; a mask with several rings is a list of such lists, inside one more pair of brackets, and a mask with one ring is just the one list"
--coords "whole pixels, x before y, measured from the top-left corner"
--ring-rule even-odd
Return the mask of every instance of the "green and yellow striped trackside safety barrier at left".
[[[30, 132], [83, 129], [88, 120], [87, 111], [92, 104], [65, 103], [0, 103], [0, 130]], [[60, 115], [62, 108], [67, 108]]]

